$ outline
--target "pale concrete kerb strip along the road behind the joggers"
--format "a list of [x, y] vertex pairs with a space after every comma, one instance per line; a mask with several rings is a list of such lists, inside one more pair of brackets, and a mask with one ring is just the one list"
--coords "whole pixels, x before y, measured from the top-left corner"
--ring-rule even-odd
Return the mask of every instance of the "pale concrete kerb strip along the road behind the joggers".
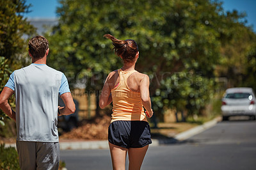
[[[169, 134], [169, 139], [152, 139], [150, 146], [159, 146], [161, 144], [171, 144], [184, 141], [193, 135], [199, 134], [208, 128], [214, 127], [218, 121], [221, 121], [220, 117], [214, 120], [208, 121], [203, 125], [199, 125], [194, 128], [190, 128], [185, 132], [181, 132], [177, 135]], [[16, 147], [16, 144], [5, 144], [6, 147]], [[60, 139], [60, 150], [93, 150], [93, 149], [108, 149], [108, 140], [104, 141], [75, 141], [75, 140], [61, 140]]]

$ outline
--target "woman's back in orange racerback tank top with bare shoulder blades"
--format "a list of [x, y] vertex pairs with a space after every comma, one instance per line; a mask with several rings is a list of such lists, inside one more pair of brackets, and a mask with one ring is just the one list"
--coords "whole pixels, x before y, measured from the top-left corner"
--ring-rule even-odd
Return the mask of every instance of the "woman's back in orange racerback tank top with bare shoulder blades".
[[[112, 121], [147, 121], [140, 94], [141, 73], [136, 70], [115, 71], [109, 79], [113, 100]], [[113, 86], [115, 84], [115, 86]]]

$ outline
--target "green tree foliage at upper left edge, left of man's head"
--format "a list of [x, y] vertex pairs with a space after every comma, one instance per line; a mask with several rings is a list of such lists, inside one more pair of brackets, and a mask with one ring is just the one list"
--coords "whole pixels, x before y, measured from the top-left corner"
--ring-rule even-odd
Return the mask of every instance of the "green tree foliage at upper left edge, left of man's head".
[[0, 56], [10, 59], [12, 66], [20, 66], [26, 49], [25, 37], [35, 34], [35, 28], [24, 19], [29, 6], [25, 0], [0, 1]]

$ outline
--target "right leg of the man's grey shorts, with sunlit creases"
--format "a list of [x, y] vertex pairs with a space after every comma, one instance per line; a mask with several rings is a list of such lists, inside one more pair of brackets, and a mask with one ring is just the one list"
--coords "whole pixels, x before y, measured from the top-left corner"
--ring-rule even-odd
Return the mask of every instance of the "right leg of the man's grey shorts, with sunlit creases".
[[36, 143], [36, 169], [56, 169], [60, 164], [59, 143]]

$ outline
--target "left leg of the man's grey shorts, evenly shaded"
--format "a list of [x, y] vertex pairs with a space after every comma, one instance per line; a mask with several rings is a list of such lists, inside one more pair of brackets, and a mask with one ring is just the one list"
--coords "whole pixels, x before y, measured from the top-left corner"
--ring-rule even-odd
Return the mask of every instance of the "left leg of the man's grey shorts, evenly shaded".
[[17, 141], [17, 151], [21, 170], [36, 169], [36, 144], [35, 142]]

